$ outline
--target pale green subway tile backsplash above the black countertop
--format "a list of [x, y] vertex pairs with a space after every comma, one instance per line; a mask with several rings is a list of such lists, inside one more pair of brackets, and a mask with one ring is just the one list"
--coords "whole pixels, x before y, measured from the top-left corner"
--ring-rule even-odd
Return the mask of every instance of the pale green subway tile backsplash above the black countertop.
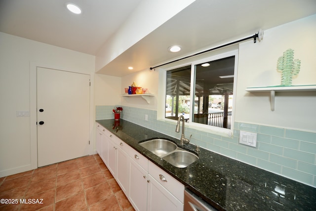
[[[96, 106], [96, 120], [113, 119], [115, 106]], [[145, 115], [148, 121], [145, 121]], [[157, 120], [157, 111], [123, 106], [121, 119], [180, 139], [176, 122]], [[316, 187], [316, 133], [242, 122], [234, 123], [233, 137], [185, 128], [191, 143], [241, 162]], [[257, 133], [257, 147], [238, 143], [239, 131]]]

